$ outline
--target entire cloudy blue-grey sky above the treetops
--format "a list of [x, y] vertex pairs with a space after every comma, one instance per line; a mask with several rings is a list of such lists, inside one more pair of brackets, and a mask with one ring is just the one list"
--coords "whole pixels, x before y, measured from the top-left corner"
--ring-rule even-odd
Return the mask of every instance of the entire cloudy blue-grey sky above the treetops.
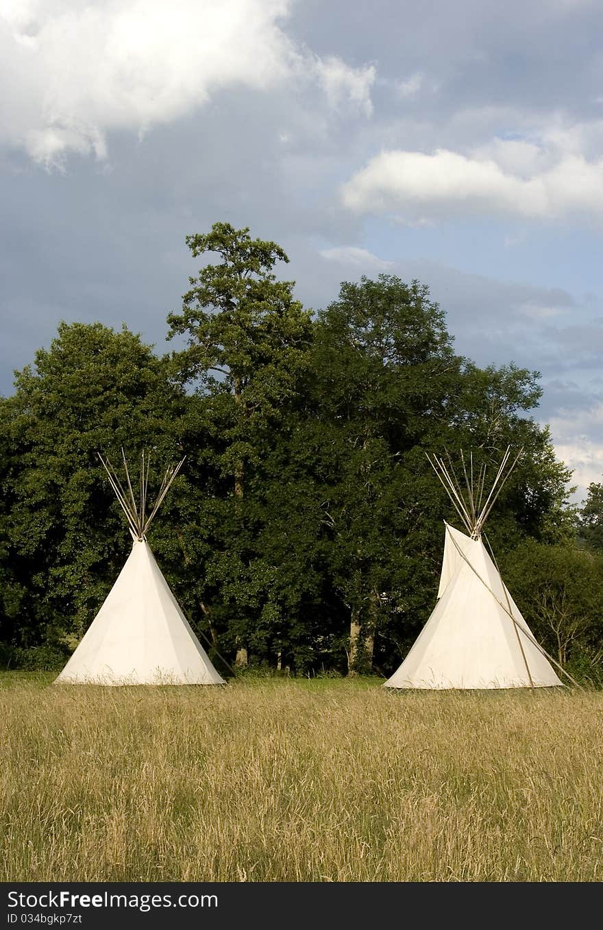
[[216, 220], [307, 306], [419, 278], [603, 473], [601, 0], [0, 0], [0, 393], [60, 319], [166, 348]]

